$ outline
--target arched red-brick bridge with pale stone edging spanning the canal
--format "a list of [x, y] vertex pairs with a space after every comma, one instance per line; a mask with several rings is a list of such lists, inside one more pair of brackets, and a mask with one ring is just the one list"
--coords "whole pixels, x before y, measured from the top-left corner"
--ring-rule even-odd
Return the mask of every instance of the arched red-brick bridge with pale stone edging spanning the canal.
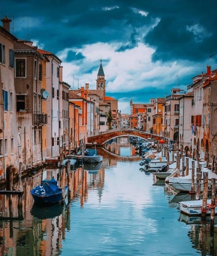
[[139, 131], [136, 129], [118, 128], [113, 130], [104, 131], [99, 135], [94, 135], [87, 138], [88, 143], [96, 142], [98, 146], [103, 145], [110, 139], [123, 137], [123, 136], [136, 136], [143, 139], [151, 138], [153, 140], [160, 140], [161, 136], [146, 133], [145, 131]]

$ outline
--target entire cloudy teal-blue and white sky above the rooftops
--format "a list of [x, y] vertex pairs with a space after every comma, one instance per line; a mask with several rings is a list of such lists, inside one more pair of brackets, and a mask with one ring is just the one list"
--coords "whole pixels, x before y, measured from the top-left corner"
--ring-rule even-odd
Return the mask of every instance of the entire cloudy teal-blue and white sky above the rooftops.
[[125, 113], [130, 99], [186, 90], [207, 64], [217, 68], [216, 10], [216, 0], [0, 0], [11, 32], [60, 57], [74, 88], [96, 88], [101, 59], [107, 95]]

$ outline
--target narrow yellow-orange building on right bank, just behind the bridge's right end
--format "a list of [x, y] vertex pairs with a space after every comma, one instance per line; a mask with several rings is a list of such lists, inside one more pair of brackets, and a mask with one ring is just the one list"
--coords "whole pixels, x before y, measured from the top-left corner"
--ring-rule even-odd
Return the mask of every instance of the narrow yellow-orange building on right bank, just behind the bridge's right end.
[[163, 123], [163, 107], [165, 104], [165, 98], [157, 98], [154, 103], [153, 118], [153, 134], [162, 136], [162, 123]]

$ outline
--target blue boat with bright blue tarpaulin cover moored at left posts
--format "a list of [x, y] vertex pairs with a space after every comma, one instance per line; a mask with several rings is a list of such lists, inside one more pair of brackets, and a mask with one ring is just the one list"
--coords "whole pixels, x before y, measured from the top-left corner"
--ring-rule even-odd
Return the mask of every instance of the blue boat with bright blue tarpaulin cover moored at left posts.
[[[65, 187], [65, 196], [68, 194], [68, 186]], [[40, 205], [57, 204], [62, 201], [62, 188], [58, 187], [56, 179], [44, 179], [42, 184], [30, 191], [34, 202]]]

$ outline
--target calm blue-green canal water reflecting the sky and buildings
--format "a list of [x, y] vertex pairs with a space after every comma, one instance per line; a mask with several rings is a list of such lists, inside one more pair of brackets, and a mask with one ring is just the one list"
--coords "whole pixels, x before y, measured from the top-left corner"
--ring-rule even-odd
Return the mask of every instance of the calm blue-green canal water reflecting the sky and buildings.
[[140, 169], [127, 138], [105, 147], [102, 166], [70, 172], [68, 206], [40, 208], [30, 196], [59, 179], [55, 168], [23, 179], [22, 212], [0, 195], [0, 255], [216, 255], [216, 227], [211, 236], [209, 220], [180, 214], [177, 193]]

